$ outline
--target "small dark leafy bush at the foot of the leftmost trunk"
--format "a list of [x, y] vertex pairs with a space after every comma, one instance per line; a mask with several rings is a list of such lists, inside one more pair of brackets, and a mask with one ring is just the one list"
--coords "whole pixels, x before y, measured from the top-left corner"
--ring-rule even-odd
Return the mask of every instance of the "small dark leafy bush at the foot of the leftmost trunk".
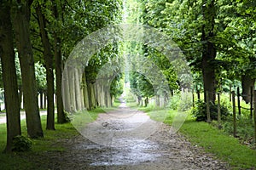
[[32, 149], [32, 140], [25, 136], [15, 136], [13, 140], [13, 151], [28, 151]]

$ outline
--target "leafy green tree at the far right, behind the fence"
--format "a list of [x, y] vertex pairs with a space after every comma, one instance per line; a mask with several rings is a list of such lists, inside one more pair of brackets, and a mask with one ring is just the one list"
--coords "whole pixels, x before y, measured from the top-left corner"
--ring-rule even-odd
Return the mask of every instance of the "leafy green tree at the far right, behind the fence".
[[255, 83], [255, 3], [253, 1], [223, 0], [218, 14], [219, 59], [225, 62], [225, 70], [231, 80], [239, 80], [242, 98], [250, 101], [251, 87]]

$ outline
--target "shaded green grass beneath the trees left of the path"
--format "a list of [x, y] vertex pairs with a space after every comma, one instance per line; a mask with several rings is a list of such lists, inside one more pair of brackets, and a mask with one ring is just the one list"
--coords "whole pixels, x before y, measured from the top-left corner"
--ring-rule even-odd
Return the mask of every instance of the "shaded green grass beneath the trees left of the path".
[[[104, 111], [101, 108], [89, 111], [91, 120], [96, 120], [99, 113]], [[0, 152], [0, 169], [4, 170], [27, 170], [27, 169], [44, 169], [49, 157], [48, 153], [65, 151], [64, 146], [60, 143], [67, 139], [79, 135], [78, 131], [73, 127], [72, 123], [57, 124], [55, 123], [55, 131], [45, 130], [46, 116], [41, 116], [42, 127], [44, 129], [44, 138], [32, 139], [32, 150], [27, 152], [17, 152], [11, 154], [3, 154]], [[89, 122], [88, 122], [89, 123]], [[26, 134], [26, 121], [21, 121], [22, 135]], [[6, 124], [0, 124], [0, 150], [4, 150], [6, 144]], [[44, 156], [44, 158], [43, 158]], [[42, 165], [43, 167], [38, 167]]]

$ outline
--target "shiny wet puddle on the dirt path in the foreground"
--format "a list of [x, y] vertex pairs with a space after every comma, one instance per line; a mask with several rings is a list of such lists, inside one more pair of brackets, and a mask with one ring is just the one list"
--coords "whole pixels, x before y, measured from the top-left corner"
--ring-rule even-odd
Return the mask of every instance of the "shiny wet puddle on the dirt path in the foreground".
[[[153, 162], [161, 155], [157, 153], [159, 145], [142, 139], [119, 139], [123, 140], [122, 147], [107, 147], [100, 144], [79, 144], [76, 150], [93, 153], [90, 156], [90, 166], [120, 166], [137, 165], [142, 162]], [[87, 158], [88, 159], [88, 158]]]

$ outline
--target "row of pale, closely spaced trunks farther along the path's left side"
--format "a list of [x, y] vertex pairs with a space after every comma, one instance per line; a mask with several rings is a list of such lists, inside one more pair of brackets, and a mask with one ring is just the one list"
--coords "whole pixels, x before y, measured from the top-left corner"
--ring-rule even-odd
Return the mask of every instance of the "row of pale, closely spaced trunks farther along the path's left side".
[[68, 112], [112, 106], [113, 97], [108, 83], [87, 81], [85, 71], [76, 65], [67, 65], [62, 79], [64, 108]]

